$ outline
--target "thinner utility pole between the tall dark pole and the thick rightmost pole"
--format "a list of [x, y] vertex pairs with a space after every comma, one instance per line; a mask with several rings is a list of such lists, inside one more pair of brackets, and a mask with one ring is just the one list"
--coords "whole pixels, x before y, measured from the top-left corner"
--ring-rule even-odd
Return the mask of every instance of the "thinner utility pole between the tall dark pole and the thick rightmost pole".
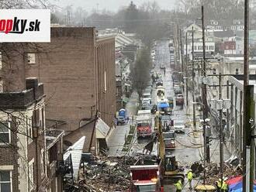
[[[219, 100], [222, 100], [222, 94], [221, 94], [221, 74], [219, 73]], [[221, 179], [221, 186], [223, 183], [223, 125], [222, 125], [222, 114], [223, 109], [222, 106], [220, 107], [220, 179]]]

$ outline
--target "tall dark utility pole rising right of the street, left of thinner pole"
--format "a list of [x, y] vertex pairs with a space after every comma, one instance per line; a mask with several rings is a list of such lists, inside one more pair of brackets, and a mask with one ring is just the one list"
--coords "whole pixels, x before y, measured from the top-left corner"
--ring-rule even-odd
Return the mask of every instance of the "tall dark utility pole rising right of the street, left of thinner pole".
[[[206, 42], [205, 42], [205, 26], [204, 26], [204, 12], [203, 12], [203, 6], [202, 6], [202, 74], [203, 77], [206, 77]], [[208, 105], [207, 105], [207, 91], [206, 91], [206, 84], [202, 84], [202, 104], [204, 106], [202, 110], [202, 118], [205, 121], [208, 117]], [[206, 147], [206, 161], [207, 163], [210, 162], [209, 159], [209, 135], [208, 132], [206, 132], [206, 124], [203, 124], [203, 136], [205, 140], [205, 147]]]

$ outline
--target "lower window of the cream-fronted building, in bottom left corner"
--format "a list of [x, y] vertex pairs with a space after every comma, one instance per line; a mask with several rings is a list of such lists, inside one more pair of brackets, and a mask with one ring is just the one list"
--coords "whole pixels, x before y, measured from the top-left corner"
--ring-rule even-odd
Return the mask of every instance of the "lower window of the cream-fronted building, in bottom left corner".
[[12, 171], [0, 170], [0, 192], [12, 192]]

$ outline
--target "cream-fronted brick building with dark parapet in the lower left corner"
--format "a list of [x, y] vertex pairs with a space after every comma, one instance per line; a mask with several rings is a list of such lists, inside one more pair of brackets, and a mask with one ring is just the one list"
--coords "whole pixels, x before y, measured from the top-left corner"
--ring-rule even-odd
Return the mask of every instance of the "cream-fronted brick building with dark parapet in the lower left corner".
[[26, 79], [23, 91], [0, 94], [1, 191], [47, 191], [51, 183], [62, 191], [56, 170], [49, 177], [44, 99], [43, 84], [35, 78]]

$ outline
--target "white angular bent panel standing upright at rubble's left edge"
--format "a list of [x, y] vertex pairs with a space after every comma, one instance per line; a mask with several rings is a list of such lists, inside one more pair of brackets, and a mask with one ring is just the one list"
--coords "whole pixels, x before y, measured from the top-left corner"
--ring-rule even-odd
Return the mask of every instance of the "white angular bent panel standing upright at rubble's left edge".
[[71, 156], [74, 180], [78, 180], [78, 170], [81, 163], [81, 153], [85, 145], [85, 136], [82, 136], [73, 146], [67, 148], [67, 152], [64, 153], [63, 159], [67, 160]]

